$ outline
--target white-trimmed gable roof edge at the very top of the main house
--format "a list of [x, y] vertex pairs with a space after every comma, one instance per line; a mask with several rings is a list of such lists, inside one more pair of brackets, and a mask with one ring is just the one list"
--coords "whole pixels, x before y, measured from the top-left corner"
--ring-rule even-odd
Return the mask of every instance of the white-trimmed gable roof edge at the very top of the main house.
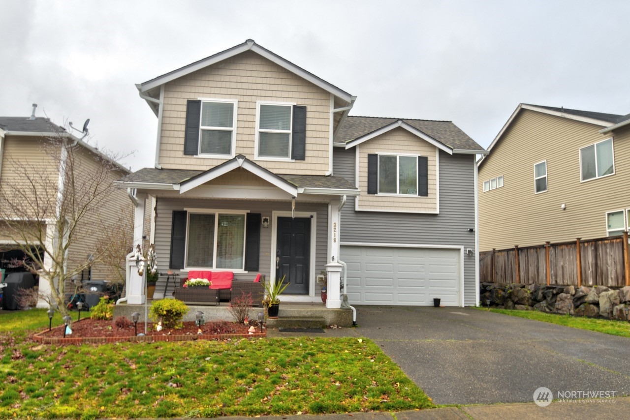
[[[321, 79], [321, 77], [315, 76], [311, 72], [302, 69], [302, 67], [299, 67], [298, 65], [293, 64], [289, 60], [286, 60], [280, 57], [280, 55], [277, 55], [271, 52], [270, 50], [262, 47], [261, 45], [257, 44], [254, 40], [251, 40], [251, 39], [248, 39], [239, 45], [236, 45], [232, 48], [228, 48], [227, 50], [224, 50], [217, 54], [210, 55], [210, 57], [206, 57], [205, 59], [195, 61], [191, 64], [180, 67], [179, 69], [165, 73], [161, 76], [154, 77], [153, 79], [148, 80], [146, 82], [136, 84], [135, 86], [139, 90], [140, 96], [142, 96], [143, 94], [145, 95], [149, 94], [148, 96], [151, 97], [151, 99], [147, 99], [145, 96], [143, 96], [143, 98], [147, 101], [149, 106], [151, 106], [151, 109], [154, 110], [154, 112], [156, 112], [156, 106], [157, 106], [155, 103], [156, 92], [154, 92], [154, 89], [159, 88], [159, 86], [162, 86], [165, 83], [168, 83], [175, 79], [179, 79], [180, 77], [186, 76], [186, 74], [190, 74], [192, 72], [198, 71], [200, 69], [208, 67], [209, 65], [216, 64], [217, 62], [221, 62], [223, 60], [229, 59], [230, 57], [234, 57], [234, 55], [238, 55], [249, 50], [255, 52], [258, 55], [261, 55], [262, 57], [265, 57], [266, 59], [274, 62], [275, 64], [280, 65], [280, 67], [283, 67], [284, 69], [287, 69], [288, 71], [293, 72], [294, 74], [297, 74], [297, 76], [300, 76], [303, 79], [306, 79], [312, 84], [319, 86], [319, 88], [322, 88], [324, 89], [324, 91], [327, 91], [335, 95], [337, 98], [341, 99], [345, 103], [350, 104], [355, 99], [355, 97], [353, 97], [351, 94], [347, 93], [346, 91], [343, 91], [342, 89], [337, 88], [335, 85], [329, 82], [326, 82], [324, 79]], [[151, 93], [153, 94], [151, 95]]]

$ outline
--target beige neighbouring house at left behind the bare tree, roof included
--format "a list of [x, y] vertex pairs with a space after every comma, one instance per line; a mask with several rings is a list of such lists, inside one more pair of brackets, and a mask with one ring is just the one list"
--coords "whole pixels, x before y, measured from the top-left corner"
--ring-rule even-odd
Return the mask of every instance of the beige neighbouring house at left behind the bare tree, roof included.
[[[35, 224], [38, 220], [44, 220], [42, 224], [42, 232], [47, 236], [47, 247], [52, 247], [53, 239], [55, 237], [54, 224], [46, 223], [46, 221], [55, 220], [53, 217], [47, 216], [55, 209], [55, 200], [60, 196], [67, 194], [69, 182], [64, 180], [64, 176], [60, 171], [60, 160], [54, 156], [62, 156], [62, 147], [59, 142], [52, 141], [52, 139], [59, 139], [60, 137], [66, 137], [69, 141], [75, 141], [77, 153], [74, 155], [76, 159], [80, 160], [78, 164], [81, 166], [81, 171], [74, 173], [76, 176], [83, 176], [83, 173], [94, 173], [96, 165], [100, 159], [109, 159], [105, 157], [101, 152], [94, 149], [85, 142], [73, 137], [70, 133], [66, 132], [64, 128], [55, 125], [50, 122], [48, 118], [35, 117], [35, 108], [33, 108], [33, 115], [19, 117], [7, 117], [0, 116], [0, 190], [8, 192], [8, 188], [16, 188], [20, 183], [28, 184], [26, 179], [21, 179], [20, 171], [16, 171], [16, 167], [23, 166], [28, 171], [28, 178], [31, 181], [40, 182], [36, 184], [38, 205], [33, 205], [33, 208], [37, 208], [37, 219], [33, 219], [28, 216], [28, 209], [23, 214], [11, 215], [12, 220], [22, 219], [25, 230], [33, 230], [37, 232]], [[97, 159], [95, 159], [95, 156]], [[112, 183], [121, 176], [129, 174], [130, 171], [125, 167], [116, 164], [117, 169], [108, 173], [110, 178], [108, 182]], [[81, 183], [81, 179], [77, 180]], [[66, 188], [64, 188], [66, 185]], [[21, 200], [35, 201], [35, 194], [31, 194], [30, 188], [25, 188], [21, 195]], [[51, 198], [51, 202], [48, 199]], [[1, 203], [0, 203], [1, 205]], [[97, 214], [87, 215], [84, 219], [85, 224], [96, 223], [98, 220], [119, 220], [123, 215], [127, 215], [129, 225], [131, 225], [130, 217], [132, 215], [131, 206], [129, 203], [129, 197], [125, 191], [114, 190], [112, 196], [108, 200], [108, 204], [101, 208], [101, 211]], [[28, 213], [27, 213], [28, 212]], [[85, 225], [77, 225], [77, 229], [84, 229]], [[3, 268], [7, 268], [13, 264], [9, 259], [23, 258], [24, 254], [16, 249], [14, 246], [11, 231], [8, 230], [7, 225], [2, 224], [0, 220], [0, 264]], [[77, 234], [77, 241], [72, 242], [69, 246], [67, 256], [67, 271], [72, 271], [72, 266], [79, 266], [84, 263], [89, 254], [93, 254], [98, 241], [103, 239], [102, 236], [96, 234], [95, 236]], [[37, 241], [33, 241], [36, 243]], [[43, 258], [43, 262], [46, 265], [49, 260], [46, 256]], [[9, 268], [9, 270], [11, 270]], [[15, 268], [14, 270], [23, 270]], [[13, 270], [13, 271], [14, 271]], [[91, 267], [90, 274], [93, 280], [115, 280], [118, 276], [117, 270], [108, 265], [94, 264]], [[84, 273], [84, 280], [88, 280], [88, 272]], [[40, 292], [45, 293], [50, 291], [50, 286], [47, 282], [42, 281], [39, 284]], [[71, 292], [71, 290], [68, 290]], [[48, 307], [43, 301], [40, 301], [38, 306]]]

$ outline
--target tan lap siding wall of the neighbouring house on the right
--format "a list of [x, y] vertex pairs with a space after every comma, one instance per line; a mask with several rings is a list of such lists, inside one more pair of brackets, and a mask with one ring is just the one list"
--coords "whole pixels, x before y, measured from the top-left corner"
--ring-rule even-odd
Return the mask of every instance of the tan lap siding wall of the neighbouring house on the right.
[[[479, 168], [481, 251], [606, 236], [605, 213], [630, 207], [630, 130], [614, 133], [615, 174], [582, 183], [579, 149], [611, 137], [600, 128], [521, 111]], [[534, 164], [544, 160], [547, 191], [534, 194]], [[504, 186], [484, 193], [501, 175]]]

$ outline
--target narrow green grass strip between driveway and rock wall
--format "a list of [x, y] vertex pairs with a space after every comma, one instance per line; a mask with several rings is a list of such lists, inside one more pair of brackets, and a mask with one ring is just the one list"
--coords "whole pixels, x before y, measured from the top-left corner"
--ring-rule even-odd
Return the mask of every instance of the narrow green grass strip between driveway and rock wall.
[[610, 334], [612, 336], [630, 337], [630, 322], [627, 321], [546, 314], [545, 312], [539, 312], [537, 310], [479, 309], [489, 310], [490, 312], [496, 312], [497, 314], [512, 315], [515, 317], [534, 319], [542, 322], [551, 322], [551, 324], [558, 324], [572, 328], [603, 332], [604, 334]]

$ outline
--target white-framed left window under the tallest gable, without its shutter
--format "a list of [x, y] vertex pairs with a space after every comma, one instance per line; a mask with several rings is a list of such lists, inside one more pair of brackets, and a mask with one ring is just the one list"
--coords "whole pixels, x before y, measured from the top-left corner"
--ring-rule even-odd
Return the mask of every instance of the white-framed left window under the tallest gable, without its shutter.
[[236, 102], [202, 101], [199, 154], [231, 156]]

